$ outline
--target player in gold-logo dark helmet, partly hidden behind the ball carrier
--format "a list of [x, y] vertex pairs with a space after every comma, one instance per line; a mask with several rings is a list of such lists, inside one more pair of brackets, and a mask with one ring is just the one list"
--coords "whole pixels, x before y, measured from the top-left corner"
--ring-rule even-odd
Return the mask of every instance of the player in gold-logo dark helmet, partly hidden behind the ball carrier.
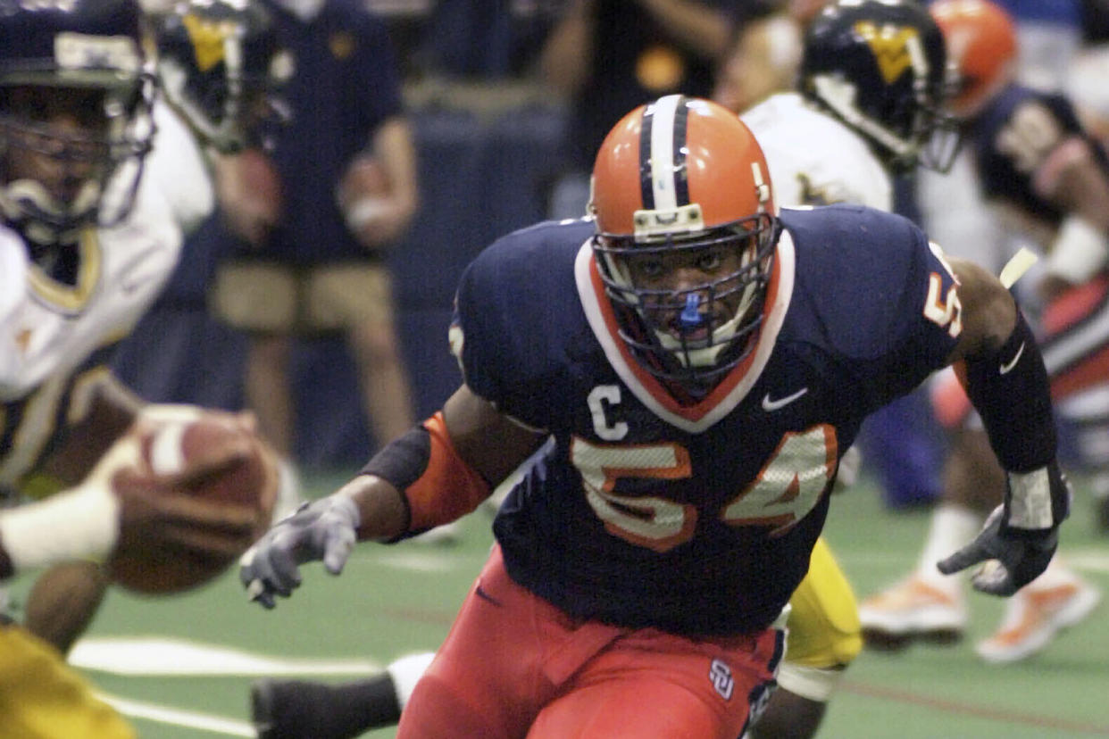
[[[154, 99], [156, 131], [128, 224], [131, 232], [160, 224], [165, 238], [172, 238], [172, 232], [180, 242], [214, 207], [211, 158], [262, 146], [266, 126], [279, 123], [274, 91], [287, 75], [288, 64], [276, 44], [268, 13], [254, 2], [186, 0], [149, 20], [163, 94]], [[141, 234], [126, 238], [140, 247], [145, 239]], [[132, 324], [170, 275], [173, 259], [156, 270], [145, 264], [157, 271], [159, 279], [144, 288], [149, 295], [141, 306], [135, 304]], [[105, 275], [105, 285], [119, 284]], [[113, 333], [122, 338], [129, 330], [116, 327]], [[71, 349], [81, 352], [77, 342]], [[295, 507], [298, 489], [293, 478], [282, 476], [279, 497], [278, 507]], [[106, 587], [94, 563], [58, 565], [39, 578], [28, 596], [24, 625], [65, 654], [91, 622]]]

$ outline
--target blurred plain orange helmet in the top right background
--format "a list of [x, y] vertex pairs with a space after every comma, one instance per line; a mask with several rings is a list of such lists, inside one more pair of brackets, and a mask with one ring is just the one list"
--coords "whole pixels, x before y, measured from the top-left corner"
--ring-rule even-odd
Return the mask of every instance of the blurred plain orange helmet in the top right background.
[[969, 117], [1013, 80], [1017, 32], [1013, 19], [988, 0], [937, 0], [928, 12], [944, 32], [954, 64], [956, 93], [949, 106]]

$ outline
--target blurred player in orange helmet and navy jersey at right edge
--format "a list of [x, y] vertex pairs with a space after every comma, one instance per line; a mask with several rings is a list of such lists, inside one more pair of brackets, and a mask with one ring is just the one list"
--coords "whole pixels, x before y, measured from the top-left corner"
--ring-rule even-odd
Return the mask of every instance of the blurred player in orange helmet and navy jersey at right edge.
[[[1109, 160], [1065, 96], [1015, 81], [1016, 33], [1001, 8], [986, 0], [939, 0], [929, 11], [958, 68], [950, 106], [965, 122], [984, 197], [1047, 252], [1039, 329], [1051, 392], [1060, 420], [1074, 430], [1076, 462], [1092, 473], [1102, 501], [1109, 500], [1103, 443], [1109, 432]], [[859, 608], [867, 642], [886, 648], [962, 636], [968, 622], [963, 585], [936, 577], [930, 563], [973, 537], [1005, 490], [980, 425], [966, 418], [969, 403], [958, 382], [949, 377], [937, 388], [940, 417], [957, 427], [944, 502], [933, 514], [916, 571]], [[976, 649], [994, 663], [1028, 657], [1087, 617], [1100, 599], [1098, 588], [1057, 557], [1008, 602], [998, 630]]]

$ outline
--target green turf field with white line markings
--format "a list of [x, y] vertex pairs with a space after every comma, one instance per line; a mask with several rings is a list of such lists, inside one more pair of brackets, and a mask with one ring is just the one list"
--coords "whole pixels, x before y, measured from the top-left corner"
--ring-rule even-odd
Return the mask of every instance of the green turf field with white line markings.
[[[340, 478], [319, 476], [313, 492]], [[1109, 592], [1109, 538], [1093, 533], [1079, 495], [1062, 546]], [[858, 594], [914, 562], [927, 514], [884, 511], [865, 482], [833, 500], [826, 530]], [[465, 522], [456, 546], [414, 543], [356, 550], [339, 578], [318, 565], [274, 612], [247, 604], [233, 573], [186, 595], [112, 593], [74, 661], [134, 717], [142, 737], [253, 736], [246, 695], [258, 675], [342, 680], [401, 654], [431, 649], [489, 546], [489, 517]], [[13, 586], [18, 598], [27, 586]], [[953, 647], [864, 651], [832, 702], [822, 737], [844, 739], [1064, 739], [1109, 736], [1109, 605], [1027, 663], [984, 665], [971, 646], [996, 626], [1001, 603], [974, 594], [968, 638]], [[366, 735], [393, 737], [393, 730]]]

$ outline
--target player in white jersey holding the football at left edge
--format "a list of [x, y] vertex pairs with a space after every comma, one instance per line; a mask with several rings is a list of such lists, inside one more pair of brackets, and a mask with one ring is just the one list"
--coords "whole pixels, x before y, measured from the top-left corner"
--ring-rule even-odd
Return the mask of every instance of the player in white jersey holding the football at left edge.
[[60, 658], [111, 562], [155, 545], [225, 561], [260, 525], [258, 510], [205, 503], [189, 487], [255, 448], [250, 419], [211, 412], [241, 441], [204, 469], [136, 483], [122, 451], [176, 412], [144, 407], [106, 368], [182, 238], [165, 194], [142, 176], [154, 80], [140, 24], [132, 0], [0, 8], [0, 490], [21, 504], [0, 514], [0, 575], [68, 563], [29, 597], [38, 637], [2, 629], [13, 736], [132, 736]]

